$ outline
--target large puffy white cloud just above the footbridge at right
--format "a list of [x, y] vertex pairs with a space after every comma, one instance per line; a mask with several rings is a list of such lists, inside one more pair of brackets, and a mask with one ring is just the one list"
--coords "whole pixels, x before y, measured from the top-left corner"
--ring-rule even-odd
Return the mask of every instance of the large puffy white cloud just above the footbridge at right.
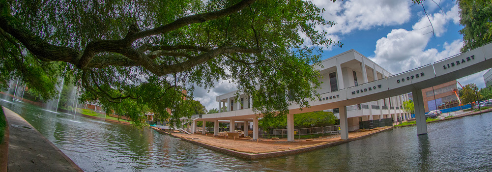
[[[429, 17], [437, 37], [446, 32], [446, 25], [449, 22], [459, 22], [458, 5], [455, 5], [449, 11], [442, 14], [436, 12]], [[390, 33], [376, 41], [376, 50], [374, 51], [373, 61], [389, 70], [391, 73], [400, 73], [419, 66], [433, 63], [437, 60], [450, 57], [460, 53], [463, 45], [461, 39], [454, 40], [452, 43], [444, 43], [442, 52], [437, 49], [426, 47], [432, 38], [432, 31], [427, 16], [412, 26], [413, 30], [393, 29]]]

